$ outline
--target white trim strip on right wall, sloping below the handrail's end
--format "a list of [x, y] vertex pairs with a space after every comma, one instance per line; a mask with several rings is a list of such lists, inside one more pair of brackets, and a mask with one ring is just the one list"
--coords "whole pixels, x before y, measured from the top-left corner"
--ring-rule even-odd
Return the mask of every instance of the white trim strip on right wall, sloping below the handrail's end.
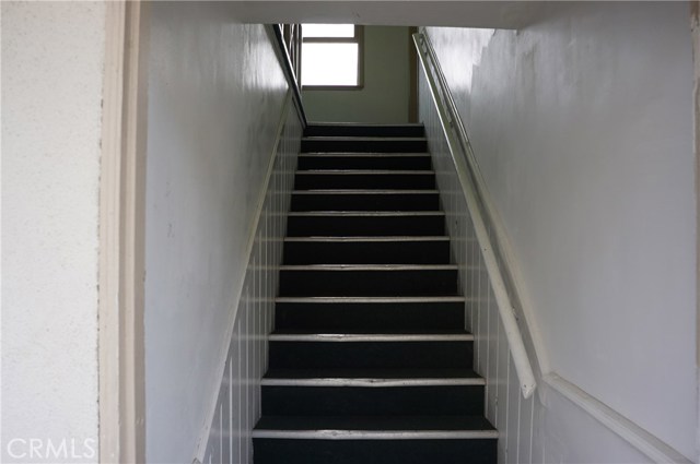
[[573, 404], [581, 407], [588, 415], [620, 436], [654, 462], [660, 464], [692, 463], [692, 461], [658, 439], [656, 436], [644, 430], [617, 411], [597, 400], [595, 396], [586, 393], [558, 373], [549, 372], [544, 376], [542, 380], [547, 385], [551, 386]]

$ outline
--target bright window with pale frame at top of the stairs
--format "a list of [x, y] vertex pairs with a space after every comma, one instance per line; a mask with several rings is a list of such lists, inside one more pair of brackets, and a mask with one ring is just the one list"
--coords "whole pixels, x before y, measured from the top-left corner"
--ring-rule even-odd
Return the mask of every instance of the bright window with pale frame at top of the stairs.
[[362, 26], [302, 25], [302, 87], [362, 87]]

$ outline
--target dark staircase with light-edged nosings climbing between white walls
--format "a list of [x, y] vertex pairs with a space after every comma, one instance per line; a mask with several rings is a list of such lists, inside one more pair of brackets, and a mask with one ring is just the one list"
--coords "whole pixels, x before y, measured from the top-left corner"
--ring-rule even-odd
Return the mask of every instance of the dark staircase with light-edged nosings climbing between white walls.
[[422, 126], [315, 124], [255, 464], [495, 463]]

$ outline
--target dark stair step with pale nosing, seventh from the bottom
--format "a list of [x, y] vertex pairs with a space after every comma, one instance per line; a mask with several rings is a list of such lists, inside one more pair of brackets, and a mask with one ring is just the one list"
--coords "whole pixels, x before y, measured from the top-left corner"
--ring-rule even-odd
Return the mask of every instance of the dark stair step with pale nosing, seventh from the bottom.
[[443, 236], [442, 212], [294, 212], [287, 219], [289, 237]]

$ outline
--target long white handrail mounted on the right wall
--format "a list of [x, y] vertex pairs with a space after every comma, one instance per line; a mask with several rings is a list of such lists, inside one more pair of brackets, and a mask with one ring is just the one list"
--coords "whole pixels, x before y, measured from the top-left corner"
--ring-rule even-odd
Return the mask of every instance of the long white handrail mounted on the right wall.
[[[535, 381], [535, 374], [525, 350], [525, 344], [523, 343], [523, 336], [521, 335], [517, 320], [514, 313], [514, 307], [511, 302], [508, 289], [505, 287], [505, 281], [499, 266], [499, 262], [489, 238], [481, 209], [479, 207], [478, 186], [475, 186], [475, 179], [477, 178], [476, 157], [469, 143], [462, 118], [456, 109], [456, 105], [447, 87], [447, 83], [444, 79], [440, 63], [435, 57], [435, 52], [428, 40], [428, 37], [422, 33], [413, 34], [413, 41], [418, 50], [418, 57], [425, 73], [428, 85], [430, 87], [433, 102], [435, 103], [435, 109], [450, 147], [450, 154], [455, 164], [457, 178], [462, 186], [464, 198], [467, 202], [469, 215], [474, 224], [474, 229], [481, 249], [483, 262], [491, 281], [493, 288], [493, 295], [499, 308], [501, 321], [505, 330], [505, 336], [510, 345], [511, 354], [513, 355], [513, 364], [515, 365], [515, 371], [520, 379], [521, 391], [523, 396], [528, 398], [537, 382]], [[429, 70], [429, 66], [432, 72]], [[433, 75], [433, 72], [435, 75]], [[435, 76], [440, 81], [440, 86], [435, 82]], [[464, 154], [464, 156], [460, 155]]]

